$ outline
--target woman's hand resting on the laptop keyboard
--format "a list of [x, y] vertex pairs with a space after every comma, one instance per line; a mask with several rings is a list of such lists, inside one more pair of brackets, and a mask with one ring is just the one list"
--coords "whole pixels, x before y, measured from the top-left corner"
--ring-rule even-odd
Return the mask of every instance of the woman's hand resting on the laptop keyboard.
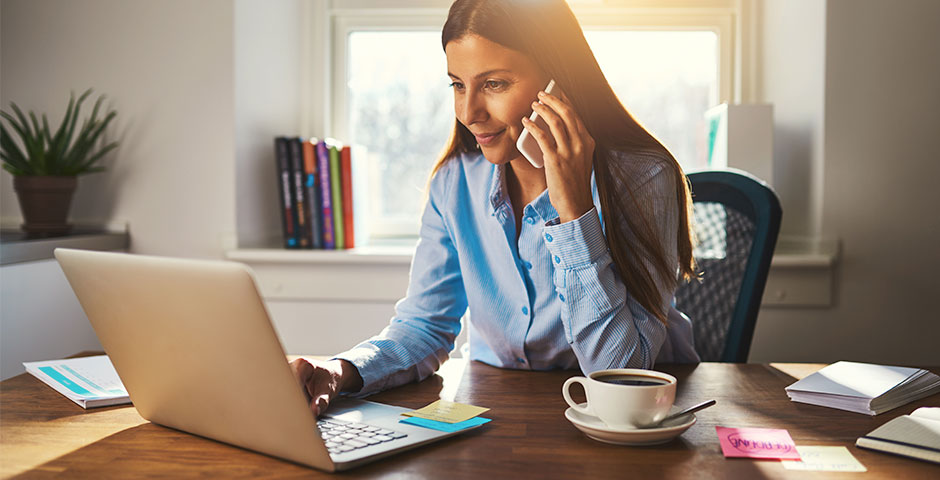
[[358, 392], [362, 388], [359, 370], [346, 360], [316, 360], [300, 357], [290, 362], [294, 376], [315, 416], [326, 412], [339, 392]]

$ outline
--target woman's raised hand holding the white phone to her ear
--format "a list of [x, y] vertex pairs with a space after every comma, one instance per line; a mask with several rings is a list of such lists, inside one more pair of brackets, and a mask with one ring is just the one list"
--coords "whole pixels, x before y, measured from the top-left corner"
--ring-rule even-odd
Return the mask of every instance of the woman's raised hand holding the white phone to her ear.
[[594, 138], [564, 93], [559, 98], [539, 92], [539, 101], [533, 102], [532, 109], [545, 120], [549, 131], [528, 118], [522, 119], [522, 125], [542, 149], [549, 199], [559, 220], [568, 222], [594, 207], [591, 195]]

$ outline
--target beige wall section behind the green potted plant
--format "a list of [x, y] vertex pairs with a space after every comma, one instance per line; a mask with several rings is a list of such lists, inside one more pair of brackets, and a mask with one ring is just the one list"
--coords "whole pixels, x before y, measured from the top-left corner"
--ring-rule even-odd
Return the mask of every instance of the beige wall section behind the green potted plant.
[[[122, 146], [82, 177], [71, 218], [127, 222], [140, 253], [221, 257], [235, 235], [233, 6], [225, 0], [3, 0], [6, 107], [58, 124], [69, 91], [105, 93]], [[90, 112], [90, 105], [86, 113]], [[0, 215], [17, 223], [11, 176]]]

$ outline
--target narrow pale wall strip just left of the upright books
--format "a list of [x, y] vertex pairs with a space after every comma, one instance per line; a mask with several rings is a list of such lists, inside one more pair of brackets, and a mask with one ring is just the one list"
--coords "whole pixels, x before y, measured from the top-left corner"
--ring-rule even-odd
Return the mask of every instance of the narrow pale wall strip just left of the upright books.
[[235, 211], [240, 246], [279, 245], [274, 137], [299, 135], [303, 2], [235, 2]]

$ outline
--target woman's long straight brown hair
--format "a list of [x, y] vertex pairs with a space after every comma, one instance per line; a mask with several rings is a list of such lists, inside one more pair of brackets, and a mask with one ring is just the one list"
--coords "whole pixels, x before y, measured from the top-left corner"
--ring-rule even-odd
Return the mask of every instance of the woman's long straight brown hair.
[[[658, 239], [652, 212], [639, 208], [641, 199], [629, 187], [631, 155], [663, 159], [675, 175], [679, 231], [679, 274], [694, 276], [691, 198], [685, 175], [675, 158], [627, 112], [601, 72], [581, 26], [564, 0], [457, 0], [450, 7], [441, 42], [477, 35], [516, 50], [538, 64], [567, 94], [575, 111], [594, 138], [594, 177], [611, 256], [627, 291], [660, 321], [666, 321], [663, 298], [678, 285], [676, 265], [669, 265], [664, 240]], [[476, 140], [459, 121], [431, 176], [460, 153], [477, 150]], [[628, 232], [633, 233], [630, 235]], [[645, 264], [651, 265], [650, 271]]]

